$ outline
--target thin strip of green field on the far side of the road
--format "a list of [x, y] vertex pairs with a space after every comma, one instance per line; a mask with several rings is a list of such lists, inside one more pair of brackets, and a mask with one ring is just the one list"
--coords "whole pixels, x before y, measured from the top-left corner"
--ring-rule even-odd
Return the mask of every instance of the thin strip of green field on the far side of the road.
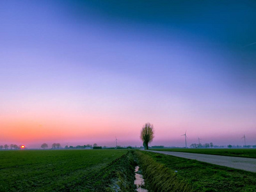
[[256, 158], [256, 148], [163, 148], [154, 150]]

